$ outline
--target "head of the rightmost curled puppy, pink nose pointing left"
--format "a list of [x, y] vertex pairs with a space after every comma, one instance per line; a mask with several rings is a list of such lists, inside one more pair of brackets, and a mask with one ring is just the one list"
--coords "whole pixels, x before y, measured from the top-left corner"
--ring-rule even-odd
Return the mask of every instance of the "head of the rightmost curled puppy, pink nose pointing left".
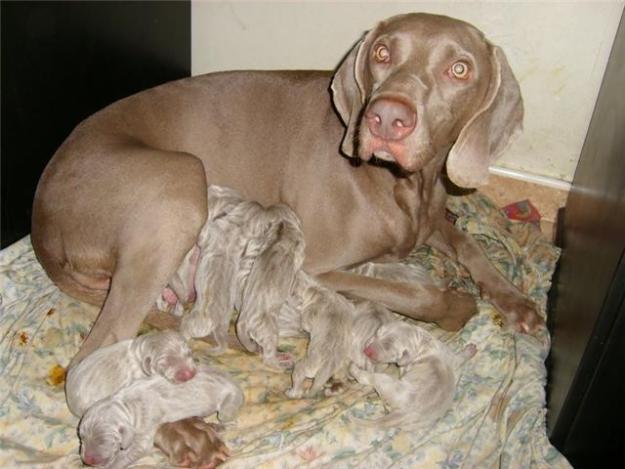
[[375, 363], [407, 366], [419, 355], [421, 342], [421, 334], [416, 326], [396, 320], [381, 325], [363, 352]]

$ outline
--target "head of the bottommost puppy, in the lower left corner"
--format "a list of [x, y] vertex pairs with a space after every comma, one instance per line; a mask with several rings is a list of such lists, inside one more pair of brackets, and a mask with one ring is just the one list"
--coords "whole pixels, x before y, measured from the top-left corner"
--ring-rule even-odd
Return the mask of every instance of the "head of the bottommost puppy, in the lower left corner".
[[122, 406], [101, 400], [85, 412], [78, 426], [80, 457], [88, 466], [106, 466], [130, 446], [134, 435]]

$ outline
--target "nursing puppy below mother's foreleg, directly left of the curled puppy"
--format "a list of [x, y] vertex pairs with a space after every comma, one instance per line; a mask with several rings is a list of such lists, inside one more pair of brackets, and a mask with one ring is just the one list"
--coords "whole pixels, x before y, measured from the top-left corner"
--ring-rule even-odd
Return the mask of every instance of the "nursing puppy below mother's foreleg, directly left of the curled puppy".
[[[317, 394], [331, 377], [343, 379], [351, 362], [372, 366], [363, 350], [377, 328], [394, 319], [390, 311], [372, 302], [354, 304], [304, 272], [298, 275], [294, 296], [301, 301], [301, 325], [310, 340], [306, 356], [293, 368], [288, 397]], [[306, 378], [313, 379], [308, 391]]]

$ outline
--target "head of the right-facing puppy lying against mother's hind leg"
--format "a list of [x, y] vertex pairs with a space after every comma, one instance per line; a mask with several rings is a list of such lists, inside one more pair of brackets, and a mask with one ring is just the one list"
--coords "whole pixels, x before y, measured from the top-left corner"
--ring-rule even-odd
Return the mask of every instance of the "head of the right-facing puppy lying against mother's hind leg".
[[159, 374], [172, 383], [181, 383], [197, 373], [191, 348], [180, 333], [166, 330], [142, 339], [139, 354], [146, 375]]

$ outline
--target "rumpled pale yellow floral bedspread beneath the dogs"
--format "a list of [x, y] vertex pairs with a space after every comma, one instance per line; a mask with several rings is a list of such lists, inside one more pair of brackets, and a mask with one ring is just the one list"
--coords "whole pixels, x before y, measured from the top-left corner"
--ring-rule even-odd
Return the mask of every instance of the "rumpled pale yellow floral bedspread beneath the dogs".
[[[534, 226], [511, 223], [479, 193], [452, 197], [456, 225], [475, 236], [491, 261], [539, 305], [546, 303], [559, 251]], [[477, 295], [466, 271], [422, 247], [408, 263], [452, 278]], [[37, 262], [28, 237], [0, 251], [0, 467], [80, 467], [78, 423], [65, 404], [64, 367], [76, 353], [97, 308], [61, 293]], [[478, 300], [479, 314], [457, 333], [425, 325], [452, 349], [475, 343], [462, 370], [453, 408], [420, 431], [362, 425], [382, 415], [375, 392], [350, 383], [339, 395], [288, 400], [288, 373], [263, 366], [259, 356], [228, 350], [198, 360], [227, 370], [246, 404], [223, 438], [232, 457], [223, 467], [570, 467], [545, 430], [544, 359], [549, 337], [511, 333], [496, 310]], [[305, 338], [281, 348], [301, 356]], [[154, 450], [137, 463], [168, 467]]]

